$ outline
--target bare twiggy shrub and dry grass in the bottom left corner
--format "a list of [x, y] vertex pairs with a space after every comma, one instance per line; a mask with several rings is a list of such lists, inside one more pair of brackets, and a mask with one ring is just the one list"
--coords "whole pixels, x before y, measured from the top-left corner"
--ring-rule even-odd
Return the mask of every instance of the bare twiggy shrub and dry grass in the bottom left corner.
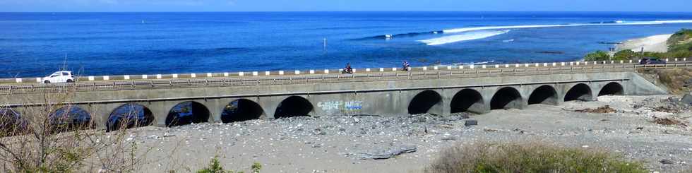
[[74, 113], [59, 111], [76, 107], [64, 104], [71, 97], [70, 92], [45, 94], [40, 100], [25, 102], [39, 105], [2, 108], [18, 112], [20, 118], [0, 114], [4, 120], [0, 126], [0, 172], [135, 172], [140, 169], [148, 150], [126, 139], [129, 138], [126, 127], [109, 133], [94, 129], [94, 117], [88, 122], [75, 123]]

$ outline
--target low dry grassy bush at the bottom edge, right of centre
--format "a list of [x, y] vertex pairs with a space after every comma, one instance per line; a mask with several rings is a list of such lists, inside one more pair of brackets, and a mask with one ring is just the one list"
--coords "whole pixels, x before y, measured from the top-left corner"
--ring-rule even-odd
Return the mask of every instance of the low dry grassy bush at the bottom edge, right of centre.
[[479, 143], [449, 148], [424, 172], [648, 172], [599, 150], [541, 143]]

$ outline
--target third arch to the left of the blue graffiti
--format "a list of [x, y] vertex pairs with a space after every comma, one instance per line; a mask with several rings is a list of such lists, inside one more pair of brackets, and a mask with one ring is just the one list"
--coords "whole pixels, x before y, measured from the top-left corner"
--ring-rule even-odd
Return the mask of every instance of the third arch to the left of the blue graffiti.
[[209, 121], [210, 112], [199, 102], [188, 101], [175, 105], [168, 112], [166, 126], [182, 126]]

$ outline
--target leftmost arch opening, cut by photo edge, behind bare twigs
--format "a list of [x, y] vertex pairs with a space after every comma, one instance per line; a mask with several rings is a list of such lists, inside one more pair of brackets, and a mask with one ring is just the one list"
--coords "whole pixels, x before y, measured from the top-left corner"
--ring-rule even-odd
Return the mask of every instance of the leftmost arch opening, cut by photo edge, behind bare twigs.
[[0, 138], [27, 133], [28, 124], [19, 112], [10, 108], [0, 108]]

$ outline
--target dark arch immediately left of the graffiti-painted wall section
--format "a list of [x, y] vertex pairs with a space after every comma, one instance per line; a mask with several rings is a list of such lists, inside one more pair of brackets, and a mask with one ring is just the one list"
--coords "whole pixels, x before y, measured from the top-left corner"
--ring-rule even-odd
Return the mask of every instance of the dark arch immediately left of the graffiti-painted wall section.
[[313, 112], [314, 106], [310, 101], [300, 96], [291, 96], [279, 103], [274, 112], [274, 118], [306, 117]]

